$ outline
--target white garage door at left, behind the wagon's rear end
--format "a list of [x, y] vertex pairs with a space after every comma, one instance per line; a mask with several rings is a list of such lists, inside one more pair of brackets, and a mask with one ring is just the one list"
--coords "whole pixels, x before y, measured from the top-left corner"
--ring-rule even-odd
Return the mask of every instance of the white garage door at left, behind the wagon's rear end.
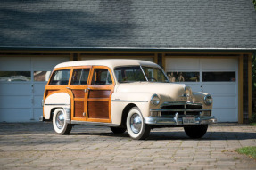
[[0, 122], [38, 121], [45, 74], [69, 57], [0, 57]]

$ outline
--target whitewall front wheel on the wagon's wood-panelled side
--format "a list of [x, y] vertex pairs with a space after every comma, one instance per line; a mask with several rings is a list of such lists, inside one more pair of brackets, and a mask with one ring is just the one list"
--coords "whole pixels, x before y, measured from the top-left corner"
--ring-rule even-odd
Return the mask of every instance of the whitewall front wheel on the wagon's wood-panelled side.
[[126, 124], [129, 136], [135, 140], [144, 140], [151, 130], [150, 125], [145, 124], [144, 118], [137, 107], [129, 110]]

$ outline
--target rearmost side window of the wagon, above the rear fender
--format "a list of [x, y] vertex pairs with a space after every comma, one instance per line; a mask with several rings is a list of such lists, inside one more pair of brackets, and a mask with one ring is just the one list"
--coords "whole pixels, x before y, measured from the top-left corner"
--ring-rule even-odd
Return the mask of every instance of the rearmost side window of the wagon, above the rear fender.
[[68, 85], [70, 79], [70, 69], [54, 71], [49, 85]]

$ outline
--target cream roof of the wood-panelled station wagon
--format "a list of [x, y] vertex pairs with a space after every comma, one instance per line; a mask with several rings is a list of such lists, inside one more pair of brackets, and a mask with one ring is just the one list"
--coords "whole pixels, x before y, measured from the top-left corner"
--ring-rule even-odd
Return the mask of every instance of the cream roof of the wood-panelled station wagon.
[[113, 69], [118, 66], [140, 66], [140, 65], [159, 67], [157, 64], [151, 61], [127, 60], [127, 59], [104, 59], [104, 60], [62, 62], [56, 65], [54, 68], [56, 69], [56, 68], [64, 68], [64, 67], [76, 67], [76, 66], [107, 66]]

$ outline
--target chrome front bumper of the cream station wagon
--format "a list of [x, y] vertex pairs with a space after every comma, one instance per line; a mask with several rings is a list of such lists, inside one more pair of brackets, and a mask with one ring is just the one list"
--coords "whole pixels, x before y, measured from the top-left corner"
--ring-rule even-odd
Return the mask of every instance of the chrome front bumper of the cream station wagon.
[[148, 125], [206, 125], [217, 123], [215, 117], [195, 117], [195, 122], [191, 124], [184, 124], [182, 117], [145, 117], [145, 124]]

